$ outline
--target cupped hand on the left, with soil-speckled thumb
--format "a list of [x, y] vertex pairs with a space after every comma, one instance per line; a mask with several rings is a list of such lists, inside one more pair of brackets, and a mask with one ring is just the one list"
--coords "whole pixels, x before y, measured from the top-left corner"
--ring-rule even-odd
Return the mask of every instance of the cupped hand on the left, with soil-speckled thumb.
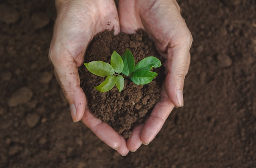
[[[105, 29], [120, 32], [113, 0], [56, 0], [57, 18], [49, 48], [49, 59], [63, 93], [70, 104], [74, 122], [82, 120], [103, 142], [121, 155], [129, 150], [123, 137], [108, 124], [94, 118], [80, 87], [78, 66], [84, 61], [85, 50], [97, 33]], [[86, 56], [85, 56], [86, 57]]]

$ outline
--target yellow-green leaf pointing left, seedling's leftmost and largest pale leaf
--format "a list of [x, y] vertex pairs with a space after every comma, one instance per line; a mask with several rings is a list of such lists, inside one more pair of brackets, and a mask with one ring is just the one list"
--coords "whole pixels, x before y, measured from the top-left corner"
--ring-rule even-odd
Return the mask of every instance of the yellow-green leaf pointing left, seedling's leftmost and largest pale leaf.
[[115, 74], [115, 70], [109, 63], [103, 61], [92, 61], [84, 63], [85, 67], [94, 75], [97, 76], [110, 76]]

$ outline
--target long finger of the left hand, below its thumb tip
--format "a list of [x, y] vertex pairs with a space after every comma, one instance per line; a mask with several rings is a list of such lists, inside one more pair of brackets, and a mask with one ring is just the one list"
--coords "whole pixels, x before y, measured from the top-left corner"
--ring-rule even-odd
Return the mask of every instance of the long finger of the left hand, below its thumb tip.
[[[85, 109], [85, 114], [82, 118], [82, 122], [94, 132], [103, 142], [105, 142], [111, 148], [118, 150], [121, 145], [124, 144], [119, 134], [110, 127], [107, 123], [103, 123], [100, 119], [95, 118], [89, 109]], [[124, 154], [125, 150], [121, 149], [121, 153]]]

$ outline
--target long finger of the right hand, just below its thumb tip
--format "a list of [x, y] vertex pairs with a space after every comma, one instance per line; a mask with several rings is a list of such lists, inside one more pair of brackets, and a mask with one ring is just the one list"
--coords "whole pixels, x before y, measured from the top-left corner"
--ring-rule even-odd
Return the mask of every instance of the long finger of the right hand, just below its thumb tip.
[[174, 105], [166, 94], [164, 85], [162, 86], [161, 96], [162, 100], [155, 104], [153, 111], [141, 130], [140, 139], [145, 145], [149, 144], [155, 138], [174, 108]]

